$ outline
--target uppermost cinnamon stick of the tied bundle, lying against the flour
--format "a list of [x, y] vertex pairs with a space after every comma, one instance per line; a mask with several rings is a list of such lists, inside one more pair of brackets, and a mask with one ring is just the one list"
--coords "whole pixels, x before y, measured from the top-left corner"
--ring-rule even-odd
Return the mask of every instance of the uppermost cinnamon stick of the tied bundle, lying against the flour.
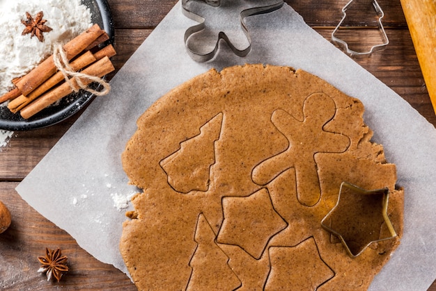
[[[76, 38], [73, 38], [70, 40], [70, 42], [66, 43], [63, 46], [63, 49], [65, 50], [68, 60], [71, 60], [81, 53], [81, 51], [84, 51], [89, 44], [94, 42], [94, 40], [96, 40], [103, 33], [104, 31], [100, 28], [100, 26], [98, 26], [98, 24], [94, 24], [87, 31], [81, 33]], [[56, 73], [56, 66], [53, 62], [53, 56], [49, 56], [49, 58], [40, 63], [38, 67], [31, 70], [29, 74], [23, 76], [23, 78], [17, 82], [17, 88], [20, 89], [24, 96], [29, 95], [30, 92], [38, 88], [39, 85], [53, 76], [54, 73]]]

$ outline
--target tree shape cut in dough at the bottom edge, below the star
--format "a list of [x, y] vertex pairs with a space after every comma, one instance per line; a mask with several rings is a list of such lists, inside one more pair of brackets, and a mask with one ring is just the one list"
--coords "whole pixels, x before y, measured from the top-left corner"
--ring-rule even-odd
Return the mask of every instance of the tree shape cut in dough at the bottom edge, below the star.
[[215, 243], [215, 233], [203, 214], [198, 215], [195, 242], [198, 244], [189, 263], [192, 274], [187, 291], [235, 290], [242, 285], [228, 265], [228, 256]]

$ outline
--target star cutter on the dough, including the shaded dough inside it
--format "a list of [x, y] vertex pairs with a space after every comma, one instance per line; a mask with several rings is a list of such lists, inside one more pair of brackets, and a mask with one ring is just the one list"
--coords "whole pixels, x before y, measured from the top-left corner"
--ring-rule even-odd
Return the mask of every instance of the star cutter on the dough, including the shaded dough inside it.
[[355, 258], [373, 242], [396, 237], [387, 214], [388, 202], [387, 188], [364, 190], [343, 182], [336, 206], [322, 219], [321, 226], [336, 235], [348, 254]]

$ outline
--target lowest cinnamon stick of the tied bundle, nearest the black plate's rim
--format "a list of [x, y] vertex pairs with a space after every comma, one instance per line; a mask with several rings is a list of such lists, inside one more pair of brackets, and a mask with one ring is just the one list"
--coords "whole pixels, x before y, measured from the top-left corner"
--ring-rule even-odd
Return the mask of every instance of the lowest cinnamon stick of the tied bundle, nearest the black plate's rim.
[[[106, 74], [109, 74], [110, 72], [113, 72], [114, 70], [115, 70], [114, 65], [112, 65], [109, 58], [104, 57], [101, 60], [98, 60], [97, 62], [93, 63], [93, 65], [84, 69], [82, 73], [90, 76], [102, 77]], [[88, 79], [82, 79], [81, 81], [86, 85], [92, 83], [92, 81]], [[72, 79], [72, 82], [76, 83], [74, 79]], [[33, 101], [25, 108], [23, 108], [20, 111], [21, 116], [24, 119], [29, 119], [36, 113], [40, 112], [42, 109], [46, 108], [52, 103], [72, 93], [72, 91], [73, 90], [68, 83], [63, 83], [58, 87], [54, 88], [53, 90], [47, 92], [40, 98], [36, 99], [36, 101]]]

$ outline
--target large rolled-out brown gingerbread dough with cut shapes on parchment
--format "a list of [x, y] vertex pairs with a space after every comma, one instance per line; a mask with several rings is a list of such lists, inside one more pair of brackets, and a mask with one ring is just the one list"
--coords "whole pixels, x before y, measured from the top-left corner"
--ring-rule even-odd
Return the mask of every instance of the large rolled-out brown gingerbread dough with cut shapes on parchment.
[[[120, 241], [137, 288], [366, 290], [398, 247], [403, 190], [363, 113], [322, 79], [272, 65], [211, 69], [165, 94], [122, 155], [143, 189]], [[343, 181], [389, 188], [398, 234], [356, 258], [320, 224]]]

